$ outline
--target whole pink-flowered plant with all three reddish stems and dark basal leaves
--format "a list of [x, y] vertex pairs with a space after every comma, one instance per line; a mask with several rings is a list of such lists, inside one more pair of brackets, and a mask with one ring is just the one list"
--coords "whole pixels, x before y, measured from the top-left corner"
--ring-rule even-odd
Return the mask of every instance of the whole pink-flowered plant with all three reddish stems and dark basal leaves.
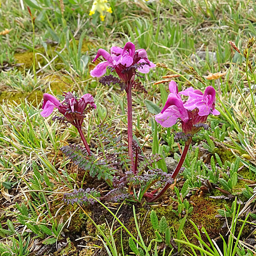
[[[141, 77], [139, 72], [148, 73], [150, 69], [156, 67], [156, 65], [148, 60], [146, 51], [144, 49], [135, 50], [135, 46], [132, 42], [127, 42], [123, 49], [120, 47], [112, 47], [110, 53], [103, 49], [99, 49], [96, 57], [94, 58], [94, 61], [100, 56], [102, 56], [105, 61], [98, 63], [98, 65], [91, 71], [91, 76], [101, 77], [99, 81], [104, 85], [118, 83], [121, 87], [121, 90], [125, 90], [127, 95], [127, 137], [131, 169], [123, 174], [116, 172], [116, 177], [112, 177], [113, 183], [109, 183], [110, 186], [114, 187], [114, 189], [111, 190], [109, 194], [114, 195], [119, 193], [120, 195], [118, 194], [118, 197], [115, 195], [114, 197], [123, 199], [130, 195], [131, 187], [136, 179], [139, 181], [143, 181], [144, 179], [146, 182], [148, 182], [147, 179], [150, 179], [151, 177], [150, 170], [147, 176], [143, 174], [143, 166], [148, 166], [150, 161], [148, 161], [147, 164], [141, 164], [140, 171], [138, 171], [138, 148], [136, 146], [137, 143], [136, 145], [133, 144], [132, 89], [136, 88], [142, 92], [145, 92], [146, 90], [143, 88], [139, 79], [136, 79], [136, 76]], [[110, 68], [111, 72], [115, 72], [118, 77], [113, 75], [103, 76], [106, 73], [107, 67]], [[220, 112], [215, 109], [216, 92], [215, 89], [211, 86], [206, 87], [204, 93], [202, 93], [200, 90], [194, 90], [192, 87], [178, 92], [176, 82], [170, 81], [169, 91], [170, 93], [164, 108], [162, 109], [161, 113], [155, 116], [155, 119], [163, 127], [171, 127], [176, 124], [177, 121], [180, 121], [182, 126], [182, 133], [179, 133], [178, 135], [185, 139], [185, 147], [173, 174], [166, 174], [166, 176], [160, 169], [151, 170], [152, 177], [155, 178], [152, 178], [153, 181], [147, 183], [146, 189], [143, 190], [144, 197], [149, 198], [148, 202], [154, 202], [158, 200], [169, 188], [170, 184], [173, 183], [173, 180], [178, 175], [184, 163], [192, 137], [202, 128], [206, 128], [207, 125], [205, 122], [208, 115], [220, 114]], [[88, 113], [88, 111], [92, 109], [96, 109], [94, 99], [91, 94], [85, 94], [79, 100], [77, 100], [77, 98], [72, 93], [64, 93], [64, 96], [65, 99], [60, 102], [54, 96], [50, 94], [44, 94], [44, 103], [42, 105], [43, 111], [41, 112], [41, 115], [48, 117], [53, 112], [53, 109], [57, 108], [58, 111], [63, 115], [62, 118], [58, 117], [58, 119], [61, 121], [70, 122], [77, 128], [79, 135], [81, 136], [81, 139], [86, 146], [88, 155], [91, 156], [90, 147], [84, 138], [81, 127], [84, 114]], [[182, 97], [186, 97], [186, 100], [182, 99]], [[134, 148], [137, 148], [137, 151], [134, 150]], [[136, 152], [135, 160], [134, 152]], [[144, 158], [141, 156], [141, 159]], [[131, 174], [133, 174], [133, 177], [131, 177]], [[119, 179], [117, 179], [117, 177], [119, 177]], [[161, 182], [157, 189], [151, 193], [147, 192], [147, 190], [153, 184], [157, 184], [157, 182], [161, 180], [162, 182], [164, 180], [167, 181], [166, 185], [163, 187], [160, 193], [154, 195], [159, 190], [159, 188], [161, 188]], [[116, 183], [116, 185], [114, 183]], [[129, 188], [126, 187], [127, 185], [129, 185]], [[123, 194], [124, 188], [126, 194]], [[73, 198], [73, 195], [71, 196]], [[86, 197], [88, 198], [88, 195], [86, 195]], [[105, 199], [107, 197], [108, 195], [105, 196]]]

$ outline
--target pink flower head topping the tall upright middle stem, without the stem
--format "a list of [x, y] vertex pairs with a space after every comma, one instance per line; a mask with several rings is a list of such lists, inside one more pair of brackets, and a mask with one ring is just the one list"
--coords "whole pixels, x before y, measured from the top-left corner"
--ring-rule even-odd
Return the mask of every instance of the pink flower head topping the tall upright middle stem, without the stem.
[[[138, 69], [141, 73], [150, 72], [150, 68], [156, 67], [156, 65], [148, 60], [146, 51], [144, 49], [135, 50], [135, 46], [132, 42], [126, 42], [124, 48], [113, 46], [110, 49], [110, 53], [104, 49], [99, 49], [95, 56], [95, 61], [98, 57], [102, 56], [106, 61], [100, 62], [91, 72], [92, 77], [100, 77], [106, 73], [106, 67], [111, 67], [116, 70], [119, 78], [126, 82], [134, 79], [134, 69]], [[138, 66], [135, 66], [137, 64]], [[134, 67], [134, 69], [127, 69]]]

